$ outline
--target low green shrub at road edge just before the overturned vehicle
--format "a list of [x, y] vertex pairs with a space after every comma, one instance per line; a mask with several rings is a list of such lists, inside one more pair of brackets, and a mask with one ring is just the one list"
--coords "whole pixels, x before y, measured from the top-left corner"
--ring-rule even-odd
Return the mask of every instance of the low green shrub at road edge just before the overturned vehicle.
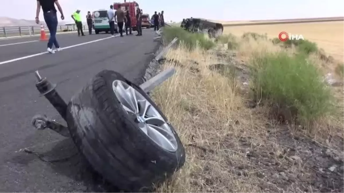
[[175, 37], [178, 38], [177, 44], [183, 43], [189, 49], [193, 49], [197, 44], [203, 49], [210, 49], [215, 45], [214, 42], [208, 39], [203, 33], [191, 33], [181, 27], [164, 27], [164, 41], [171, 42]]

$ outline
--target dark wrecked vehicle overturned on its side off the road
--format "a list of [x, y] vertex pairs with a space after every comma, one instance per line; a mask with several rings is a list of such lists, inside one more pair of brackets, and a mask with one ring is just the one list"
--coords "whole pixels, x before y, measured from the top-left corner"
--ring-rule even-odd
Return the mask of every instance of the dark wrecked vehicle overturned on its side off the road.
[[183, 19], [181, 27], [193, 33], [208, 33], [210, 38], [216, 38], [223, 33], [222, 23], [215, 23], [201, 18]]

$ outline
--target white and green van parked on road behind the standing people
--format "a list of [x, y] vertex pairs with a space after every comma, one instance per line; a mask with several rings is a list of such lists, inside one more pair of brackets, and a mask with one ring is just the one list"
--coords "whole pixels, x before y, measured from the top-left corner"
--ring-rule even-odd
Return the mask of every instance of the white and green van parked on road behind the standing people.
[[[96, 34], [99, 34], [99, 32], [109, 33], [110, 25], [106, 9], [99, 9], [93, 12], [93, 29]], [[118, 33], [117, 23], [115, 23], [115, 33]]]

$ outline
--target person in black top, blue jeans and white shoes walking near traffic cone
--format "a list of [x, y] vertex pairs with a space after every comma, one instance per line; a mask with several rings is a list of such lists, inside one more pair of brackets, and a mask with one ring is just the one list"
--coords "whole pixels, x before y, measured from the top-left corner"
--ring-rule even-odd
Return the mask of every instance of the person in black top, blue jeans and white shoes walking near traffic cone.
[[36, 23], [39, 24], [39, 15], [41, 11], [41, 7], [43, 10], [44, 21], [49, 29], [50, 38], [47, 44], [47, 51], [49, 53], [54, 54], [55, 51], [52, 49], [53, 44], [57, 51], [60, 51], [60, 45], [56, 40], [56, 31], [57, 31], [57, 11], [55, 8], [55, 4], [57, 6], [58, 11], [61, 13], [61, 19], [64, 20], [63, 11], [61, 8], [60, 3], [58, 0], [37, 0], [37, 9], [36, 9]]

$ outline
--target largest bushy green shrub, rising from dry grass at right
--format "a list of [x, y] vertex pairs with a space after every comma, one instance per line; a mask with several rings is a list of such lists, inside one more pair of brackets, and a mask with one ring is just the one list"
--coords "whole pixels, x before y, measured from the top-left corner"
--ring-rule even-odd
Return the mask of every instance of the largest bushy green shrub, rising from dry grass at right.
[[305, 54], [266, 53], [252, 57], [250, 63], [258, 100], [296, 110], [294, 118], [304, 124], [331, 111], [330, 90]]

